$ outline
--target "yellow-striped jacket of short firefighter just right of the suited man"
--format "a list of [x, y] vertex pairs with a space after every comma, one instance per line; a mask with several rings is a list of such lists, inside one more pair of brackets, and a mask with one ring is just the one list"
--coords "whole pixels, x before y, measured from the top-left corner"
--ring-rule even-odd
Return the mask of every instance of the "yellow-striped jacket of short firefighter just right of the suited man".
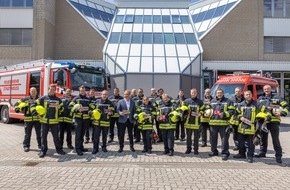
[[140, 113], [144, 113], [144, 121], [138, 120], [138, 128], [140, 130], [153, 130], [153, 120], [156, 116], [156, 108], [152, 105], [151, 102], [148, 105], [141, 104], [137, 110], [134, 117], [137, 117]]

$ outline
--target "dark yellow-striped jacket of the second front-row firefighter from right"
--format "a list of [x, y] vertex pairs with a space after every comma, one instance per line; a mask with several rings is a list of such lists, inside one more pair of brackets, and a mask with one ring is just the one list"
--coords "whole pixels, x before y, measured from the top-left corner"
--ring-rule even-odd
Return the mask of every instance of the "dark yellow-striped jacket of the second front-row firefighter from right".
[[[266, 107], [262, 104], [258, 104], [256, 101], [246, 101], [239, 103], [237, 106], [237, 118], [239, 120], [238, 132], [244, 135], [254, 135], [256, 132], [256, 115], [259, 112], [270, 113], [267, 111]], [[241, 122], [241, 117], [247, 119], [247, 122]], [[269, 117], [271, 118], [271, 117]]]

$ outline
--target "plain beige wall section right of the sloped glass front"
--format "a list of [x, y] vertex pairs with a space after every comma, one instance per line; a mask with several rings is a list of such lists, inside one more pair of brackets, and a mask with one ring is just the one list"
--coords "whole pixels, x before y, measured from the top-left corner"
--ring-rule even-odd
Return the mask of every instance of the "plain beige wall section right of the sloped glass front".
[[243, 0], [202, 40], [203, 60], [263, 58], [263, 1]]

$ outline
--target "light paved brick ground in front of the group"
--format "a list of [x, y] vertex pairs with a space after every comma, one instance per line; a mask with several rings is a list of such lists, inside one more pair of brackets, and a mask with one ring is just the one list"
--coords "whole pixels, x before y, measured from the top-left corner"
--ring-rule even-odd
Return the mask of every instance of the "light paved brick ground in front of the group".
[[[68, 154], [60, 156], [52, 149], [49, 134], [51, 149], [41, 159], [34, 133], [32, 150], [25, 153], [23, 124], [1, 123], [0, 189], [289, 189], [290, 118], [282, 122], [282, 165], [275, 162], [271, 139], [267, 158], [249, 164], [234, 160], [232, 150], [228, 161], [209, 158], [209, 147], [200, 148], [198, 156], [185, 155], [185, 142], [180, 141], [173, 157], [162, 155], [162, 144], [153, 146], [153, 154], [142, 153], [140, 144], [135, 153], [128, 145], [117, 153], [117, 142], [109, 145], [108, 153], [77, 156], [65, 149]], [[91, 151], [92, 143], [86, 147]]]

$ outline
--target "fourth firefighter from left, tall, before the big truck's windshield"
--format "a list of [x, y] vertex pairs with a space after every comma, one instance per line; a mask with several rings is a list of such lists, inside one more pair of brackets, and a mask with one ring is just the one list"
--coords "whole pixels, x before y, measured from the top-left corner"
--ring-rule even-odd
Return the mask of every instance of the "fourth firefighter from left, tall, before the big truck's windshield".
[[84, 136], [86, 128], [90, 125], [89, 111], [93, 109], [89, 97], [86, 96], [85, 86], [79, 87], [79, 95], [76, 96], [69, 104], [71, 112], [75, 119], [75, 149], [79, 156], [88, 149], [84, 148]]

